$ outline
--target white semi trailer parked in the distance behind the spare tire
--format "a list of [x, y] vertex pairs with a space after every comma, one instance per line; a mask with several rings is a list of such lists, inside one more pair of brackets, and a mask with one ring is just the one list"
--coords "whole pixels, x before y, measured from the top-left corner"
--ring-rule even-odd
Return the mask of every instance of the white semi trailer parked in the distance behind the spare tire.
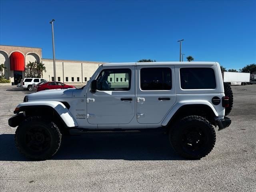
[[222, 72], [222, 78], [230, 85], [250, 84], [250, 73]]

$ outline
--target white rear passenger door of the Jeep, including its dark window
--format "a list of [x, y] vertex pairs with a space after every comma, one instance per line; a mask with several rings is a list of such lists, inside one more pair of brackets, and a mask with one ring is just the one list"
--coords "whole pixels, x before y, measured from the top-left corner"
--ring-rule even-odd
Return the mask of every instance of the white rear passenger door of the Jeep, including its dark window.
[[137, 121], [158, 124], [176, 101], [174, 66], [137, 66]]

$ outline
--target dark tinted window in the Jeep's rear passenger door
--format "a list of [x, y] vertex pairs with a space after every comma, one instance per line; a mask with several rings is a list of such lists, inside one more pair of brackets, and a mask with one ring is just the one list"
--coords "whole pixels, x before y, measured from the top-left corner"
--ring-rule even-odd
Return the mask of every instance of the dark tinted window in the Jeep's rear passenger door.
[[171, 90], [172, 70], [170, 68], [142, 68], [140, 70], [142, 90]]

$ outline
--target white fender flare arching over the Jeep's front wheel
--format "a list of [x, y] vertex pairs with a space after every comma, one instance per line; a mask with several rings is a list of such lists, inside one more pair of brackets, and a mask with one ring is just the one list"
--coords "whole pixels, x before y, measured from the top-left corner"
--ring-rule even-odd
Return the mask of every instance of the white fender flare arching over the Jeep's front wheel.
[[33, 108], [33, 107], [50, 107], [52, 108], [63, 120], [67, 127], [76, 127], [78, 123], [73, 115], [70, 113], [68, 108], [62, 103], [58, 101], [30, 101], [30, 102], [23, 102], [19, 104], [15, 110], [15, 112], [24, 111], [26, 108]]

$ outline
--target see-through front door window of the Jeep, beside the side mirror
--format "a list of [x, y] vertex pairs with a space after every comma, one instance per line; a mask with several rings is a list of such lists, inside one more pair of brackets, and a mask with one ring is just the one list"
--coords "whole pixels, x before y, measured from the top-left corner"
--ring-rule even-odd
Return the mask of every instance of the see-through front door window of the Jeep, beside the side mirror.
[[[130, 69], [106, 69], [98, 76], [98, 90], [128, 91], [131, 87], [132, 71]], [[126, 82], [118, 82], [118, 78], [126, 78]], [[112, 81], [114, 80], [114, 81]]]

